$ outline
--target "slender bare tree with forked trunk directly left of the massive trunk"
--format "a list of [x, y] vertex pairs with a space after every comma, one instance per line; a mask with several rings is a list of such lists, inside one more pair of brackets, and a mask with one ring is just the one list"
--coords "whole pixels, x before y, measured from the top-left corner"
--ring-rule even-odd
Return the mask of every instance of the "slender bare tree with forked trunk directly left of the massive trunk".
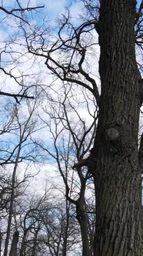
[[[52, 135], [50, 147], [54, 151], [45, 146], [45, 143], [35, 143], [47, 153], [47, 157], [50, 156], [56, 161], [65, 184], [66, 200], [75, 205], [76, 218], [81, 228], [82, 254], [92, 255], [94, 232], [93, 226], [90, 226], [85, 199], [86, 187], [91, 182], [91, 173], [82, 166], [86, 165], [84, 157], [94, 142], [98, 112], [94, 98], [89, 99], [86, 91], [78, 90], [78, 93], [83, 95], [79, 101], [75, 88], [68, 85], [63, 86], [62, 96], [58, 93], [57, 96], [52, 96], [48, 92], [48, 108], [43, 106], [40, 118], [47, 126], [47, 133]], [[86, 123], [85, 118], [81, 117], [80, 109], [83, 109], [83, 106], [88, 108], [85, 115], [91, 119], [90, 123]], [[95, 214], [95, 211], [92, 211], [92, 214]]]

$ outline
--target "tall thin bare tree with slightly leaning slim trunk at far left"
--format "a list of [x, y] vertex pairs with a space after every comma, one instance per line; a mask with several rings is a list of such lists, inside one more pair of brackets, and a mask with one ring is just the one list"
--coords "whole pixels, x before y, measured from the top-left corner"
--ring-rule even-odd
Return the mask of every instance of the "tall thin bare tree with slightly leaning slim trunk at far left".
[[[36, 108], [37, 100], [35, 99], [32, 103], [23, 106], [18, 106], [16, 103], [7, 103], [7, 111], [9, 113], [8, 118], [2, 120], [3, 130], [1, 133], [1, 217], [5, 216], [5, 227], [3, 232], [6, 233], [5, 237], [5, 252], [4, 255], [8, 254], [8, 244], [10, 241], [11, 233], [13, 232], [13, 218], [15, 217], [15, 204], [17, 197], [22, 193], [20, 187], [25, 184], [30, 177], [34, 177], [35, 173], [27, 173], [28, 167], [31, 163], [35, 162], [38, 156], [38, 149], [35, 151], [35, 145], [32, 146], [31, 136], [35, 130], [38, 129], [38, 123], [35, 122], [34, 112]], [[25, 115], [22, 113], [23, 107], [25, 106]], [[10, 110], [11, 109], [11, 110]], [[12, 113], [11, 113], [12, 111]], [[25, 164], [24, 164], [25, 162]], [[17, 179], [19, 173], [20, 163], [25, 167], [25, 171], [22, 171], [21, 178]], [[8, 217], [8, 219], [7, 219]], [[17, 230], [13, 234], [13, 238], [17, 238]], [[16, 250], [15, 239], [12, 241], [12, 251]], [[12, 252], [11, 252], [12, 254]]]

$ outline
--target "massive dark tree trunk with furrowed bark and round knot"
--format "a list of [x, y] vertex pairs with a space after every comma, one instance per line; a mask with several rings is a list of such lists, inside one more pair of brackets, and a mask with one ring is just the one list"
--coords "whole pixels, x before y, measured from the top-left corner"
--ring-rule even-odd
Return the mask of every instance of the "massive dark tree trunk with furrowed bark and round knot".
[[135, 0], [101, 1], [101, 102], [93, 150], [97, 160], [95, 256], [141, 255], [135, 4]]

